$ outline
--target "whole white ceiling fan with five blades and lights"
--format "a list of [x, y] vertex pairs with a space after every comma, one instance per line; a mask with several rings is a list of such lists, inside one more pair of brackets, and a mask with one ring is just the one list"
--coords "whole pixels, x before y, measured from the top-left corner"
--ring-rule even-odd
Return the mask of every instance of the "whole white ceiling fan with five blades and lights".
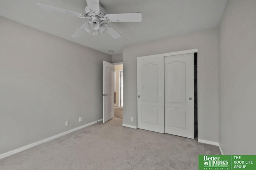
[[37, 5], [44, 9], [50, 10], [52, 12], [57, 12], [60, 14], [73, 15], [79, 18], [89, 19], [82, 27], [80, 27], [73, 35], [73, 38], [80, 37], [84, 31], [91, 33], [92, 35], [100, 35], [103, 33], [108, 33], [114, 39], [121, 37], [114, 28], [112, 28], [108, 23], [104, 22], [141, 22], [141, 13], [126, 13], [126, 14], [106, 14], [104, 8], [102, 8], [99, 0], [86, 0], [87, 6], [85, 7], [85, 13], [79, 13], [74, 11], [69, 11], [61, 8], [56, 8], [53, 6], [48, 6], [45, 4], [38, 3]]

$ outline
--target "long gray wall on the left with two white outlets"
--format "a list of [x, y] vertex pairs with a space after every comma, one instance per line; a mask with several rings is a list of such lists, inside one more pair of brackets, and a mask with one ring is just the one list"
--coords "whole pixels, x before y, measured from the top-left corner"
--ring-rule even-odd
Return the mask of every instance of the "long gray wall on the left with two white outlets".
[[0, 17], [0, 154], [102, 119], [103, 60]]

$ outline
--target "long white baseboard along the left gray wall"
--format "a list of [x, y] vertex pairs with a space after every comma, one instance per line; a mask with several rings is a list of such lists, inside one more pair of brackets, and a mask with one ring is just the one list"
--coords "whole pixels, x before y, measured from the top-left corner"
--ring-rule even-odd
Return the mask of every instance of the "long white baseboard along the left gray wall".
[[77, 131], [77, 130], [79, 130], [79, 129], [82, 129], [82, 128], [84, 128], [84, 127], [87, 127], [87, 126], [93, 125], [93, 124], [95, 124], [95, 123], [98, 123], [98, 122], [100, 122], [100, 121], [102, 121], [102, 119], [100, 119], [100, 120], [98, 120], [98, 121], [91, 122], [91, 123], [87, 123], [87, 124], [85, 124], [85, 125], [76, 127], [76, 128], [74, 128], [74, 129], [71, 129], [71, 130], [66, 131], [66, 132], [62, 132], [62, 133], [60, 133], [60, 134], [58, 134], [58, 135], [54, 135], [54, 136], [52, 136], [52, 137], [48, 137], [48, 138], [43, 139], [43, 140], [41, 140], [41, 141], [37, 141], [37, 142], [35, 142], [35, 143], [31, 143], [31, 144], [26, 145], [26, 146], [24, 146], [24, 147], [20, 147], [20, 148], [18, 148], [18, 149], [14, 149], [14, 150], [11, 150], [11, 151], [9, 151], [9, 152], [0, 154], [0, 159], [5, 158], [5, 157], [10, 156], [10, 155], [13, 155], [13, 154], [16, 154], [16, 153], [21, 152], [21, 151], [23, 151], [23, 150], [26, 150], [26, 149], [35, 147], [35, 146], [40, 145], [40, 144], [42, 144], [42, 143], [51, 141], [52, 139], [56, 139], [56, 138], [58, 138], [58, 137], [61, 137], [61, 136], [63, 136], [63, 135], [66, 135], [66, 134], [68, 134], [68, 133], [71, 133], [71, 132]]

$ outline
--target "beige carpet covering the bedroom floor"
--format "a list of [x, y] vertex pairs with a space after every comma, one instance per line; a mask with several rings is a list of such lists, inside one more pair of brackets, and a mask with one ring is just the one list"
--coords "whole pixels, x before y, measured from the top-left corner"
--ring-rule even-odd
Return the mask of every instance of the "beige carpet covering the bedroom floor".
[[198, 170], [218, 147], [122, 126], [113, 118], [0, 160], [0, 170]]

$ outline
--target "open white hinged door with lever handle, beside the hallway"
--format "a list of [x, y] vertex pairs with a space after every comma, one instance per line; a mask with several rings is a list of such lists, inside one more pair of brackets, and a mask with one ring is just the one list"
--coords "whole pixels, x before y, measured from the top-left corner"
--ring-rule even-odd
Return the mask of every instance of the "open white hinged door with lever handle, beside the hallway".
[[114, 117], [114, 64], [103, 61], [103, 123]]

